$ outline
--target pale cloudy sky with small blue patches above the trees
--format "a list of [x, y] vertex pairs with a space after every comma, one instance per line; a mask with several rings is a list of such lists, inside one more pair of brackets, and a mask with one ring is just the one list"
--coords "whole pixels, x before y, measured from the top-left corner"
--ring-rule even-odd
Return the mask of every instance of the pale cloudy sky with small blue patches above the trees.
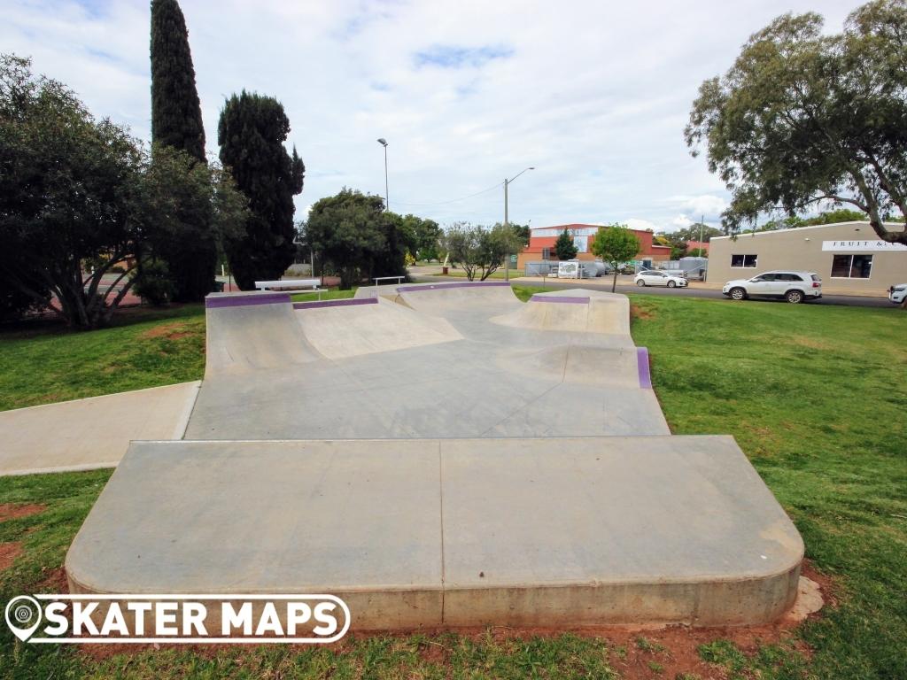
[[[343, 187], [442, 224], [717, 223], [727, 193], [690, 157], [697, 87], [776, 15], [837, 31], [856, 0], [182, 0], [208, 151], [225, 97], [283, 102], [306, 162], [297, 216]], [[0, 50], [31, 56], [97, 116], [148, 139], [146, 0], [0, 0]], [[481, 192], [481, 193], [480, 193]], [[469, 197], [469, 198], [465, 198]]]

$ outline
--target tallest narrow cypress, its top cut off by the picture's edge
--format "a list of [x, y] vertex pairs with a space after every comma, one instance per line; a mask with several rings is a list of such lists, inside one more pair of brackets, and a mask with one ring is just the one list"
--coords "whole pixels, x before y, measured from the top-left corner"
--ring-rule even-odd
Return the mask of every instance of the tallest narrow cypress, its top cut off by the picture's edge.
[[[151, 0], [151, 141], [205, 162], [205, 129], [186, 20], [176, 0]], [[186, 228], [156, 253], [167, 262], [174, 299], [202, 299], [214, 287], [217, 244], [210, 216], [180, 215]]]

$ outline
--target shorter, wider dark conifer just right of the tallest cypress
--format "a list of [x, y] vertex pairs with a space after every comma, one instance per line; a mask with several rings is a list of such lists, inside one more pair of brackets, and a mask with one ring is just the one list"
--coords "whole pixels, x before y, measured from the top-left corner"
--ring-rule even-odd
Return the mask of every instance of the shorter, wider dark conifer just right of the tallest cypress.
[[293, 197], [302, 191], [306, 167], [296, 147], [284, 149], [289, 120], [273, 97], [234, 94], [218, 125], [220, 160], [249, 199], [246, 234], [227, 248], [230, 269], [243, 290], [256, 279], [283, 275], [296, 254]]

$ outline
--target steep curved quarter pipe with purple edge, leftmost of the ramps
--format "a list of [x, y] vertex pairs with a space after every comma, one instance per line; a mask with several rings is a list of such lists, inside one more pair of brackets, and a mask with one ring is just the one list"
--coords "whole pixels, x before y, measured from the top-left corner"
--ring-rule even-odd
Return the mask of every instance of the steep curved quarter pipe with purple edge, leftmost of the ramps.
[[212, 293], [205, 316], [206, 379], [319, 358], [293, 316], [288, 293]]

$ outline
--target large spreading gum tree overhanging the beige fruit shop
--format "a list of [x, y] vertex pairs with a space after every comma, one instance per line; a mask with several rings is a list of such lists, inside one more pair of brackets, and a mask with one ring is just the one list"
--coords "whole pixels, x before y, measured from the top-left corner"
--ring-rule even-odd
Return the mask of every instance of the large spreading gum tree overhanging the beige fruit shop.
[[820, 202], [851, 206], [885, 241], [907, 232], [907, 0], [857, 8], [842, 34], [816, 14], [783, 15], [754, 34], [722, 77], [699, 88], [685, 131], [733, 195], [736, 233], [758, 215]]

